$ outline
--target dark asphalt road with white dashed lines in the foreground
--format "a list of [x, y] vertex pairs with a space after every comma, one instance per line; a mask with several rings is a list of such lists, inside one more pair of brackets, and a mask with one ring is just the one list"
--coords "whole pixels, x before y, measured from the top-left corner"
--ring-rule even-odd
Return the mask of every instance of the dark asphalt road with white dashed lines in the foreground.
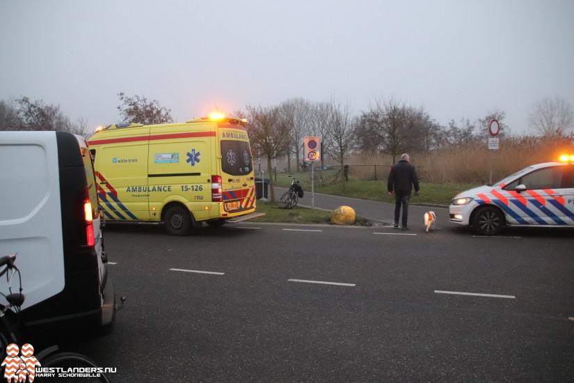
[[572, 230], [106, 228], [113, 382], [571, 382]]

